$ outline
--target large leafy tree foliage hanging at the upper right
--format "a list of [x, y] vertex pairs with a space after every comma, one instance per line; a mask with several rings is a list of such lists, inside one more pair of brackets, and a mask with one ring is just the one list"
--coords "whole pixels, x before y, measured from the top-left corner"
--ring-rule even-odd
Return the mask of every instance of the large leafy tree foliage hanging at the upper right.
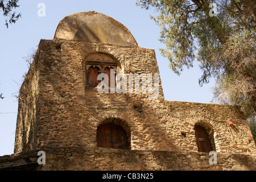
[[[217, 16], [210, 16], [210, 3]], [[199, 85], [215, 78], [215, 99], [242, 105], [256, 115], [256, 3], [253, 0], [138, 0], [159, 14], [151, 19], [161, 27], [162, 56], [177, 75], [198, 61]]]

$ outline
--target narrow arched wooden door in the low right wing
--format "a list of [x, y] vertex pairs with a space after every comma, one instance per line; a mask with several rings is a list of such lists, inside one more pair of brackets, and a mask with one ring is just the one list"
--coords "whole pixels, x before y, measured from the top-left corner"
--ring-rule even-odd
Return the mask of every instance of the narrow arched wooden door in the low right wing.
[[209, 137], [203, 129], [203, 127], [196, 125], [195, 126], [195, 137], [197, 138], [197, 146], [199, 152], [210, 152], [211, 151], [211, 143]]

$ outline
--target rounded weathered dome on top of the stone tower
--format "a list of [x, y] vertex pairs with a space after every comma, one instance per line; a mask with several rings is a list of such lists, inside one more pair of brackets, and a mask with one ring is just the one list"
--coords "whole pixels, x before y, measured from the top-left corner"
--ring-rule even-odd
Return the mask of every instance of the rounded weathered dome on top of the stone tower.
[[138, 46], [131, 32], [122, 23], [96, 11], [66, 16], [59, 22], [54, 39]]

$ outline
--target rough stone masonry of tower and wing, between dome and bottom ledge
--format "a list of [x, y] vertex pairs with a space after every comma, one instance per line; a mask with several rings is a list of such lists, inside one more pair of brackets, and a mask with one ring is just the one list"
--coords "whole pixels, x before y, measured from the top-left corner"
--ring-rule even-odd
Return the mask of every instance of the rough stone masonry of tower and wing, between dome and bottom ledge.
[[117, 119], [129, 135], [131, 150], [198, 151], [194, 126], [199, 124], [207, 130], [213, 150], [255, 154], [248, 124], [227, 125], [228, 118], [245, 119], [239, 107], [165, 101], [161, 80], [155, 100], [149, 100], [148, 93], [87, 89], [85, 64], [94, 54], [111, 57], [119, 73], [159, 73], [153, 49], [41, 40], [21, 88], [20, 96], [27, 100], [21, 100], [26, 108], [19, 107], [15, 152], [41, 146], [96, 147], [97, 127]]

